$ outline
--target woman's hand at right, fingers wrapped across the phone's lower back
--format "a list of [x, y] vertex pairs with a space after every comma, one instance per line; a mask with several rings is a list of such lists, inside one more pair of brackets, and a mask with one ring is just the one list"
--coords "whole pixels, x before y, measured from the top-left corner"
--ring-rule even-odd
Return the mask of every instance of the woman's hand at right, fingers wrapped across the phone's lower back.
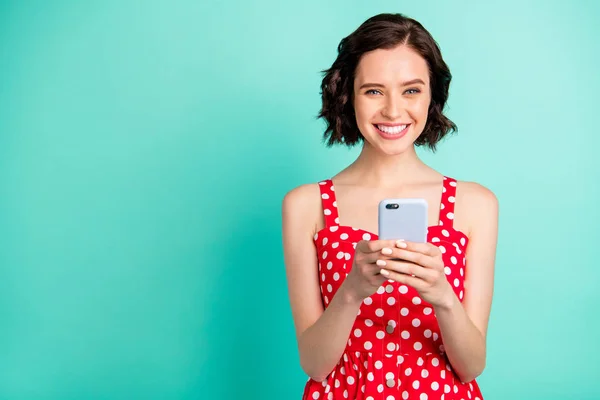
[[446, 279], [440, 249], [431, 243], [398, 240], [394, 244], [382, 249], [376, 261], [381, 274], [415, 288], [433, 306], [449, 304], [454, 292]]

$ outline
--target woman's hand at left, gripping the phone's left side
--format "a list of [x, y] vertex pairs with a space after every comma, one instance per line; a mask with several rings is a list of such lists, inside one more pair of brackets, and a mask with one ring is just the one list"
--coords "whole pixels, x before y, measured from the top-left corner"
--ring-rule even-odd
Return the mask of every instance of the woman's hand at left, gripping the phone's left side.
[[391, 254], [394, 245], [394, 240], [361, 240], [356, 244], [352, 269], [344, 281], [354, 299], [363, 301], [387, 281], [388, 278], [379, 273], [382, 267], [375, 263], [387, 259], [382, 250], [387, 248]]

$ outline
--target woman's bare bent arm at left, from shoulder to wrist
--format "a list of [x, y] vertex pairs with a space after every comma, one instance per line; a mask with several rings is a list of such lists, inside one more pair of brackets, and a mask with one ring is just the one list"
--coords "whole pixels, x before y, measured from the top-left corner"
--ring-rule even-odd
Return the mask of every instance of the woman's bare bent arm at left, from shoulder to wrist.
[[342, 283], [323, 310], [315, 223], [321, 216], [318, 187], [300, 186], [282, 204], [282, 234], [288, 291], [296, 328], [300, 365], [308, 376], [323, 381], [339, 362], [362, 301]]

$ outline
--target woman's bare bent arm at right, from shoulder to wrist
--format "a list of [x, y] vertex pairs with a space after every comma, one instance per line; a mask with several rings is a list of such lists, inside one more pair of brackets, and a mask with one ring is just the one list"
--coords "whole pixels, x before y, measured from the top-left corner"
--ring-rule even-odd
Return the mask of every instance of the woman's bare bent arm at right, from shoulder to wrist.
[[451, 291], [448, 301], [435, 307], [446, 354], [462, 382], [472, 381], [485, 367], [498, 232], [496, 197], [482, 186], [469, 185], [473, 185], [466, 193], [469, 199], [465, 198], [463, 203], [472, 221], [466, 254], [465, 297], [461, 304]]

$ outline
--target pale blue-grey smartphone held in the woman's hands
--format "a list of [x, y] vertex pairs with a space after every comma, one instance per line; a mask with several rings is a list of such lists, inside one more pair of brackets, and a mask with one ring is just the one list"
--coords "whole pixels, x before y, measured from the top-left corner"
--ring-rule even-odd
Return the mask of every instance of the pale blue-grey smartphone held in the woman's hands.
[[379, 203], [379, 239], [427, 241], [427, 201], [425, 199], [384, 199]]

